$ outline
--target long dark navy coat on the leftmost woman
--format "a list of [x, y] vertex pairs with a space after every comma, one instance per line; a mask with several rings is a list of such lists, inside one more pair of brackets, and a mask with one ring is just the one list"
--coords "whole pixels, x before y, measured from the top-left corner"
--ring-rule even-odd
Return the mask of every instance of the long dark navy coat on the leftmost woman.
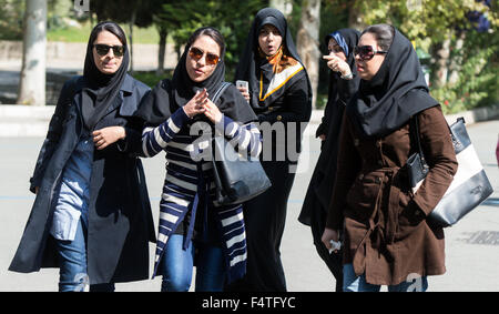
[[[59, 266], [55, 241], [49, 232], [52, 203], [83, 131], [84, 87], [83, 77], [75, 77], [62, 88], [31, 178], [30, 190], [34, 192], [35, 186], [40, 190], [10, 271], [29, 273]], [[90, 284], [149, 277], [149, 241], [155, 242], [154, 224], [142, 163], [131, 153], [141, 144], [141, 126], [132, 115], [149, 90], [126, 75], [116, 100], [95, 126], [95, 130], [124, 126], [126, 138], [94, 151], [86, 246]]]

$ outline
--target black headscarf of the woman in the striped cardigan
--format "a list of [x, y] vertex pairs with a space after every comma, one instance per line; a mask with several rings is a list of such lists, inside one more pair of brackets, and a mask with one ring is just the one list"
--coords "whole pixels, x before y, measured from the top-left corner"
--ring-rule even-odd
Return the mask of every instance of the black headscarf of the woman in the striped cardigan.
[[[191, 80], [186, 69], [189, 50], [194, 41], [204, 34], [212, 34], [221, 47], [221, 60], [216, 64], [215, 71], [206, 80], [194, 82]], [[222, 83], [225, 81], [224, 63], [225, 43], [220, 32], [211, 27], [197, 29], [185, 45], [184, 53], [180, 59], [173, 72], [172, 80], [163, 80], [156, 84], [152, 92], [144, 98], [135, 115], [143, 119], [147, 124], [157, 125], [167, 120], [173, 112], [185, 105], [197, 91], [206, 89], [208, 98], [215, 94]], [[216, 103], [218, 110], [233, 119], [234, 121], [247, 123], [256, 120], [256, 115], [247, 104], [241, 92], [235, 87], [228, 87], [220, 101]], [[204, 115], [198, 114], [194, 120], [205, 120]], [[207, 120], [206, 120], [207, 121]]]

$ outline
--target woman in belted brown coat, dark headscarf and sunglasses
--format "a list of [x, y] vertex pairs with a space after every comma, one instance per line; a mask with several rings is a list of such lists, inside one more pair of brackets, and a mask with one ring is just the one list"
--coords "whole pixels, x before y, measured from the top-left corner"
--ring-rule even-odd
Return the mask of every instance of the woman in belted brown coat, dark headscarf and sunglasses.
[[[344, 115], [322, 240], [330, 249], [344, 232], [344, 291], [426, 291], [426, 277], [446, 271], [444, 231], [426, 216], [457, 171], [449, 129], [411, 43], [395, 28], [367, 28], [354, 53], [360, 87]], [[415, 150], [411, 117], [430, 166], [415, 194], [404, 168]]]

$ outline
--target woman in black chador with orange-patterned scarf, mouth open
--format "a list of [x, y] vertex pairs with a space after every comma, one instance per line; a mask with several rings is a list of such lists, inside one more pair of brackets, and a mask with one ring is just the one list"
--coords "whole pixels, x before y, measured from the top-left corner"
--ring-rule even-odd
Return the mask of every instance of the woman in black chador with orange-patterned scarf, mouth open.
[[[302, 132], [310, 118], [312, 90], [286, 19], [278, 10], [266, 8], [256, 14], [235, 79], [248, 82], [249, 90], [240, 90], [261, 122], [262, 165], [272, 188], [244, 204], [247, 275], [234, 288], [286, 291], [279, 245]], [[293, 133], [288, 136], [288, 132]]]

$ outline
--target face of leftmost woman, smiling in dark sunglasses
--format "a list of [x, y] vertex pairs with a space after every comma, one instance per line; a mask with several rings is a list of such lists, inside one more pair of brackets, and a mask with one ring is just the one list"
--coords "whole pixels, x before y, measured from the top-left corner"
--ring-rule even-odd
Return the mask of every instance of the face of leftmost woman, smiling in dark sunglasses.
[[105, 51], [104, 47], [114, 47], [118, 50], [121, 47], [121, 51], [123, 51], [123, 43], [115, 34], [105, 30], [101, 31], [93, 42], [92, 52], [95, 67], [104, 74], [114, 74], [123, 62], [123, 55], [115, 55], [115, 49], [108, 49], [108, 52], [101, 55]]

